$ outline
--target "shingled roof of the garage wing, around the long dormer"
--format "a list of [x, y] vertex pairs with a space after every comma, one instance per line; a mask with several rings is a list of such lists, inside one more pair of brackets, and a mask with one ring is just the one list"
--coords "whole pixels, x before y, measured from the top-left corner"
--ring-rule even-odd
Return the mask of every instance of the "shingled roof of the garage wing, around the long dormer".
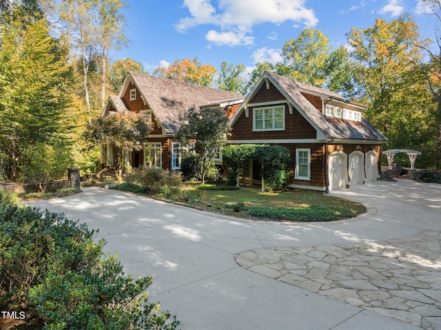
[[[300, 83], [272, 72], [264, 72], [257, 85], [254, 87], [254, 90], [258, 90], [258, 86], [263, 83], [265, 79], [271, 81], [287, 100], [296, 107], [298, 112], [300, 112], [300, 114], [302, 114], [302, 116], [304, 116], [305, 119], [316, 128], [316, 130], [322, 132], [326, 138], [336, 138], [341, 140], [371, 140], [380, 142], [387, 141], [387, 138], [385, 138], [364, 117], [362, 118], [362, 121], [349, 121], [342, 118], [325, 116], [322, 112], [318, 111], [305, 96], [303, 96], [300, 90], [309, 90], [311, 92], [322, 94], [323, 96], [332, 96], [333, 99], [338, 99], [338, 101], [358, 107], [360, 107], [360, 104], [347, 101], [343, 96], [336, 92], [329, 92], [322, 88]], [[246, 103], [252, 98], [254, 90], [247, 96], [243, 105], [246, 105]], [[238, 116], [238, 113], [236, 113], [236, 115]], [[234, 120], [233, 118], [232, 121]]]

